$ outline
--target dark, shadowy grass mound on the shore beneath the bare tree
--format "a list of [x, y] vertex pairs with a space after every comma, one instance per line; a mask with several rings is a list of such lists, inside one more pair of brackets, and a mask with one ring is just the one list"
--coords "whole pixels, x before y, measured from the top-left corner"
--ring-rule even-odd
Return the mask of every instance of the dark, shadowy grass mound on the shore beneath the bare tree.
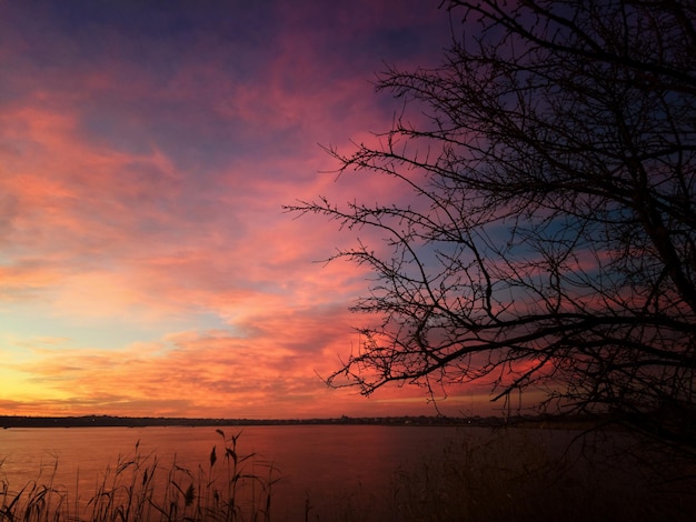
[[[668, 483], [649, 466], [607, 454], [606, 441], [563, 450], [546, 430], [500, 430], [424, 451], [394, 472], [388, 492], [354, 491], [321, 522], [694, 521], [696, 480]], [[647, 455], [644, 455], [647, 456]], [[676, 470], [675, 470], [676, 471]], [[676, 476], [676, 475], [675, 475]], [[684, 475], [680, 475], [684, 479]]]

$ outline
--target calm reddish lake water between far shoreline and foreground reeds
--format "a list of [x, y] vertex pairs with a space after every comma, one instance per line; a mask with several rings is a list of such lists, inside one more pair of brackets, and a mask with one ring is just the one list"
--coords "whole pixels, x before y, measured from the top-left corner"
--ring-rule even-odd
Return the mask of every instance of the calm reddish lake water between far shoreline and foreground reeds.
[[[435, 458], [464, 436], [488, 432], [364, 425], [227, 426], [223, 431], [228, 436], [241, 431], [238, 451], [256, 454], [256, 474], [267, 475], [266, 463], [278, 470], [272, 502], [280, 519], [299, 518], [308, 495], [319, 511], [360, 494], [378, 495], [399, 469]], [[136, 443], [140, 454], [155, 452], [165, 470], [175, 460], [191, 470], [199, 464], [208, 469], [213, 445], [219, 458], [223, 454], [222, 439], [213, 428], [9, 429], [0, 430], [0, 480], [19, 490], [54, 472], [56, 483], [90, 496], [107, 468], [116, 468], [119, 455], [135, 454]]]

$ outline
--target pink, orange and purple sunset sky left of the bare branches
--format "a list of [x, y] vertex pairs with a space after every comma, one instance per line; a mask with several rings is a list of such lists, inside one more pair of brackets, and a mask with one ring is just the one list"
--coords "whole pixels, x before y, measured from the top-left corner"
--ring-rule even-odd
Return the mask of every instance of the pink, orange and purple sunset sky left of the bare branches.
[[391, 194], [321, 145], [388, 130], [375, 73], [438, 63], [439, 3], [0, 0], [0, 414], [435, 414], [326, 387], [370, 274], [282, 205]]

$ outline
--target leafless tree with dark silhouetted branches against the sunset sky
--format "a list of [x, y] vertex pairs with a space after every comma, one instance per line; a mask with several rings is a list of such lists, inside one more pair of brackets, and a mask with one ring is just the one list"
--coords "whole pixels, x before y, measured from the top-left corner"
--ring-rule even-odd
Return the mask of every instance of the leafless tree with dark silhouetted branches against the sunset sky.
[[288, 207], [388, 238], [336, 255], [375, 272], [355, 310], [382, 321], [328, 382], [543, 390], [696, 446], [696, 4], [448, 11], [439, 67], [378, 77], [405, 100], [380, 145], [327, 149], [410, 201]]

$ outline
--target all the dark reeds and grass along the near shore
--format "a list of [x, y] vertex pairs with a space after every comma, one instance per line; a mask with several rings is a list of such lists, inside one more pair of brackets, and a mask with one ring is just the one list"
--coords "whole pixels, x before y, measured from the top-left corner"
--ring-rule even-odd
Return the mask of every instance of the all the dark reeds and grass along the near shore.
[[136, 444], [95, 491], [58, 483], [58, 463], [52, 474], [13, 484], [0, 460], [0, 521], [686, 521], [696, 512], [688, 465], [629, 441], [608, 444], [607, 433], [566, 451], [551, 450], [540, 429], [465, 435], [395, 469], [386, 493], [347, 486], [287, 499], [277, 495], [280, 471], [243, 454], [239, 434], [217, 431], [223, 443], [195, 470]]

